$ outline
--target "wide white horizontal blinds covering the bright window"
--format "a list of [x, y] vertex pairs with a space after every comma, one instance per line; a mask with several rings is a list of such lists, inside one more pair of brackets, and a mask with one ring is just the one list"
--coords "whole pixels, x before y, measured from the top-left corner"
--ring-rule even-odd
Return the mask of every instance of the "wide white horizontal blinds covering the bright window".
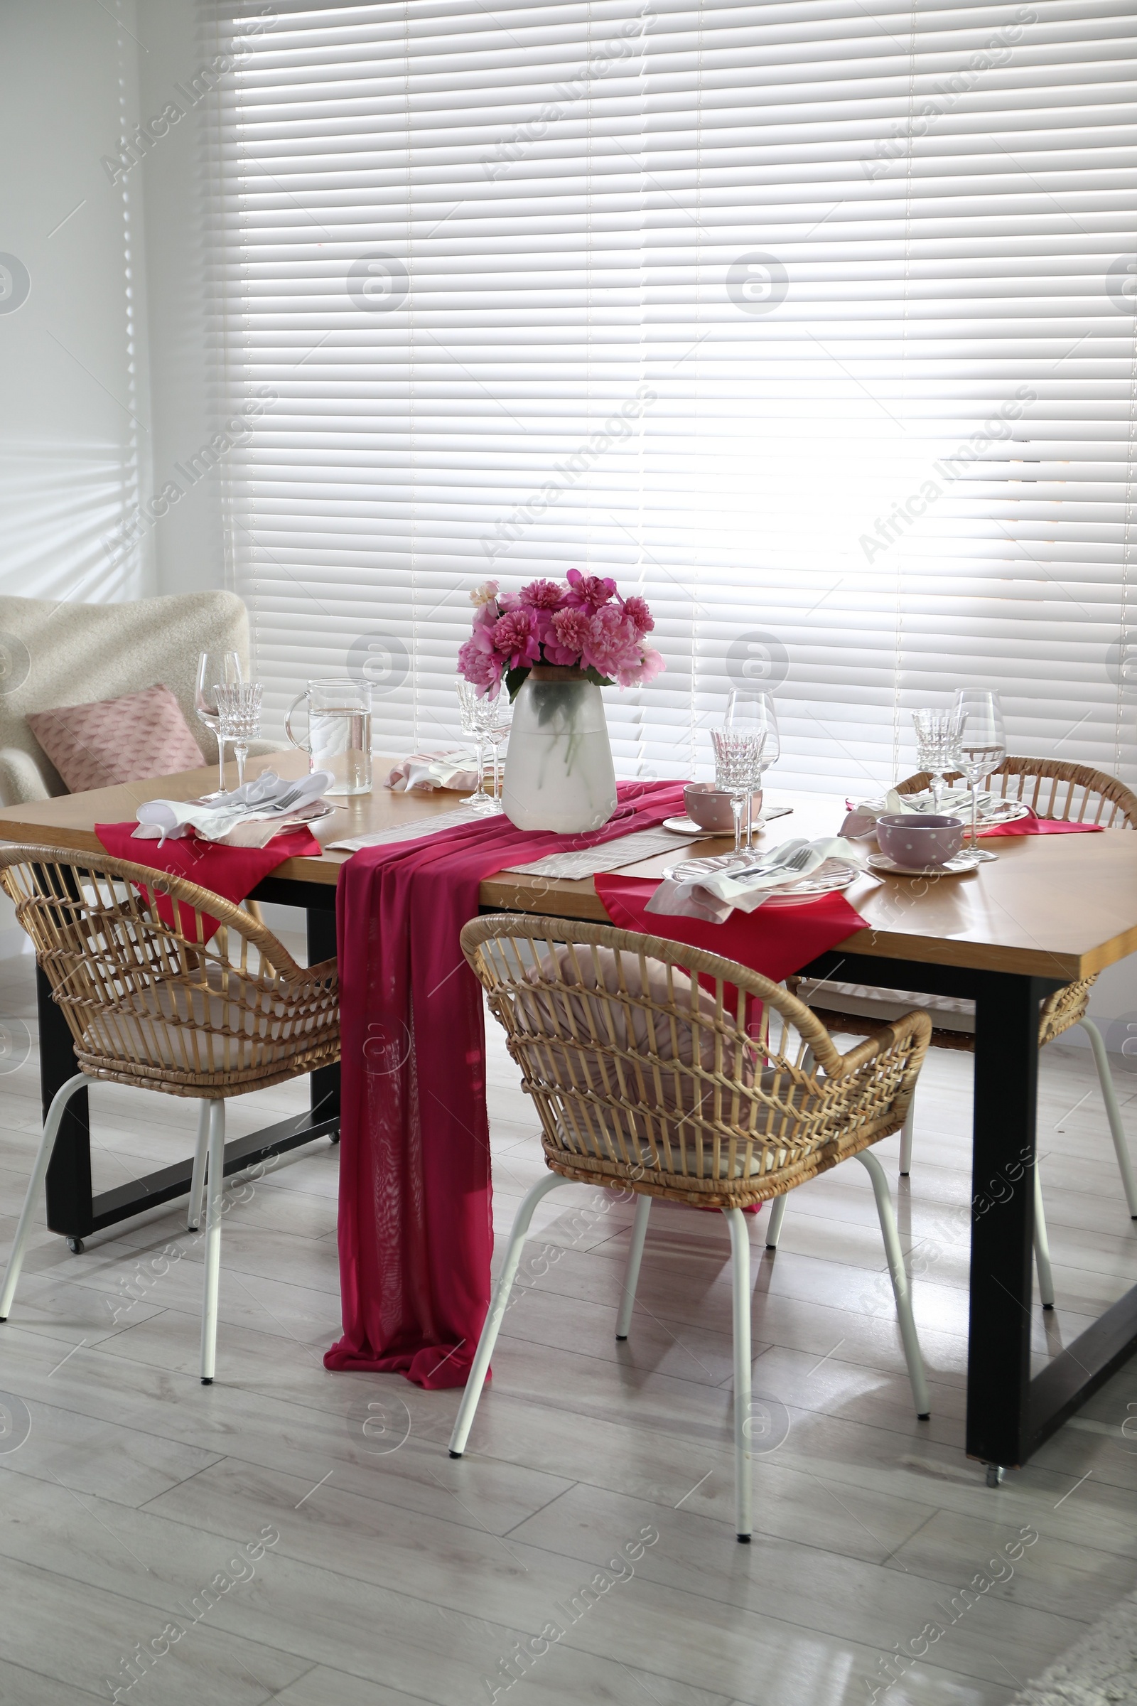
[[667, 676], [624, 773], [733, 682], [786, 785], [912, 768], [997, 686], [1014, 751], [1135, 780], [1137, 382], [1122, 0], [285, 5], [220, 92], [235, 583], [274, 708], [453, 732], [467, 592], [632, 585]]

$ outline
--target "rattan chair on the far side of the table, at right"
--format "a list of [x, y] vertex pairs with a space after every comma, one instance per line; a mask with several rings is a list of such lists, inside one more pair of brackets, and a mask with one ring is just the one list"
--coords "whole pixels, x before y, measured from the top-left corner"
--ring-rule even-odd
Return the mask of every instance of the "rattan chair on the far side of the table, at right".
[[[958, 775], [948, 776], [948, 781], [958, 780]], [[931, 775], [919, 771], [915, 776], [898, 781], [897, 793], [924, 793], [929, 786]], [[1045, 757], [1004, 757], [987, 786], [1004, 800], [1030, 805], [1038, 817], [1101, 824], [1105, 829], [1137, 829], [1137, 793], [1127, 788], [1123, 781], [1118, 781], [1117, 776], [1110, 776], [1103, 769], [1093, 769], [1089, 764], [1062, 764], [1057, 759]], [[1071, 1025], [1081, 1025], [1089, 1037], [1101, 1083], [1101, 1099], [1110, 1123], [1110, 1136], [1113, 1138], [1113, 1152], [1118, 1172], [1122, 1174], [1125, 1203], [1130, 1216], [1137, 1220], [1137, 1181], [1134, 1179], [1134, 1167], [1128, 1158], [1122, 1111], [1117, 1100], [1113, 1073], [1110, 1071], [1110, 1058], [1101, 1032], [1086, 1012], [1089, 1007], [1089, 991], [1094, 983], [1096, 974], [1093, 978], [1079, 978], [1077, 983], [1067, 983], [1043, 1001], [1038, 1017], [1038, 1046], [1043, 1047], [1047, 1042], [1053, 1042]], [[851, 1036], [873, 1036], [878, 1025], [886, 1024], [895, 1010], [921, 1007], [932, 1020], [932, 1047], [967, 1051], [973, 1051], [975, 1047], [973, 1017], [968, 1012], [970, 1003], [943, 996], [915, 995], [907, 989], [890, 989], [885, 996], [881, 991], [859, 984], [834, 983], [825, 983], [823, 1000], [815, 1001], [813, 995], [822, 988], [820, 983], [793, 979], [793, 986], [830, 1030]], [[834, 1001], [847, 1005], [842, 1010], [840, 1005], [834, 1007]], [[874, 1013], [873, 1008], [878, 1012]], [[912, 1165], [914, 1121], [915, 1104], [909, 1109], [900, 1138], [902, 1175], [907, 1175]], [[774, 1245], [781, 1232], [784, 1206], [784, 1203], [776, 1204], [771, 1215], [769, 1240]], [[1038, 1167], [1035, 1167], [1035, 1257], [1043, 1309], [1053, 1309], [1053, 1278], [1050, 1273], [1047, 1216], [1042, 1203]]]

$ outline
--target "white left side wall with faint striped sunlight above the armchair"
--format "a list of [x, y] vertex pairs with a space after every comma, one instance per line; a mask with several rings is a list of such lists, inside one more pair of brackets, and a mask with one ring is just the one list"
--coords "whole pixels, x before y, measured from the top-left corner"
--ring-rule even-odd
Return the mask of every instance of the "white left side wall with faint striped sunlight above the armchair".
[[7, 307], [0, 275], [0, 590], [32, 597], [157, 590], [148, 541], [106, 544], [152, 462], [141, 186], [101, 165], [138, 101], [133, 0], [111, 12], [0, 0], [0, 251], [29, 278]]

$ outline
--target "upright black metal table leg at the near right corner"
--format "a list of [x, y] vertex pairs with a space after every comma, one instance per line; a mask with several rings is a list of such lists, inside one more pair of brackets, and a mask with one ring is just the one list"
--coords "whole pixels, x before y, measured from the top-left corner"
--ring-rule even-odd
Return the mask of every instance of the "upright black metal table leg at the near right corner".
[[1028, 1457], [1038, 1008], [1048, 988], [984, 972], [975, 989], [967, 1452], [996, 1471]]

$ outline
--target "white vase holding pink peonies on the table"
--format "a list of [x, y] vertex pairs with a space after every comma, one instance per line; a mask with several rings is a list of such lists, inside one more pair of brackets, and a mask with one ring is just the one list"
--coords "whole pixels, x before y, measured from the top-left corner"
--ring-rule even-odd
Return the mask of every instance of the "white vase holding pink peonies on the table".
[[600, 688], [539, 664], [513, 705], [501, 805], [518, 829], [600, 829], [615, 810], [615, 771]]

